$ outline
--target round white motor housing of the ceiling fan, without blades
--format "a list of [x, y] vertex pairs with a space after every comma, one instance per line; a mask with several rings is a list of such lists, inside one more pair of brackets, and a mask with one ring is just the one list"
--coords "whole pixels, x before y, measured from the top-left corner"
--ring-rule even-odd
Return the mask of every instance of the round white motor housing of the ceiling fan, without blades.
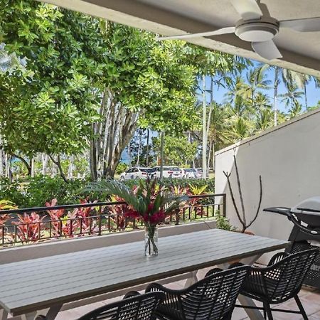
[[270, 41], [279, 32], [279, 22], [276, 19], [268, 20], [240, 20], [235, 26], [235, 34], [243, 41], [263, 42]]

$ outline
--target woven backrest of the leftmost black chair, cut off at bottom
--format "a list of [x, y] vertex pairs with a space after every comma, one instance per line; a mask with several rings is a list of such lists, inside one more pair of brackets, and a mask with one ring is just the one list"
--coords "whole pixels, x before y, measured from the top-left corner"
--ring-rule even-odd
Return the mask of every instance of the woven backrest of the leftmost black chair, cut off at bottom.
[[101, 306], [78, 320], [150, 320], [154, 319], [156, 307], [164, 300], [164, 293], [150, 292], [122, 299], [119, 302]]

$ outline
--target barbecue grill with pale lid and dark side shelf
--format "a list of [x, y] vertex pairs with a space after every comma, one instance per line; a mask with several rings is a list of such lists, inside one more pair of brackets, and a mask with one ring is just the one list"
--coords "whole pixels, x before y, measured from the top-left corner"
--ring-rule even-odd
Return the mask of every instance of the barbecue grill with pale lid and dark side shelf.
[[320, 196], [306, 199], [293, 208], [274, 207], [265, 208], [264, 211], [285, 215], [294, 227], [289, 235], [292, 245], [286, 252], [295, 253], [316, 248], [316, 256], [304, 284], [320, 289]]

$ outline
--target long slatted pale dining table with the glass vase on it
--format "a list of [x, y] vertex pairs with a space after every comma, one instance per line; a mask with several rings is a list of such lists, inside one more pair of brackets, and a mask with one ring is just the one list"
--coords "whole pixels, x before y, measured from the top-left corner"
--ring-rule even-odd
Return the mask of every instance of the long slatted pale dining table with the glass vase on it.
[[[37, 311], [48, 309], [46, 316], [53, 320], [68, 302], [186, 272], [192, 274], [189, 285], [197, 281], [200, 269], [245, 258], [253, 263], [263, 253], [288, 245], [287, 241], [211, 229], [160, 238], [156, 257], [145, 257], [144, 243], [139, 241], [7, 263], [0, 265], [0, 319], [11, 314], [31, 320]], [[253, 303], [243, 297], [240, 302]], [[263, 319], [260, 311], [246, 311], [250, 319]]]

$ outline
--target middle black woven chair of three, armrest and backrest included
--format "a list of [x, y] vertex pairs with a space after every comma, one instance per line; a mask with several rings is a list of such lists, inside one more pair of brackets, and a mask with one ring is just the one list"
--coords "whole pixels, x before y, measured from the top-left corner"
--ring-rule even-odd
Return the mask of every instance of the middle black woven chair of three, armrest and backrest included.
[[146, 292], [164, 292], [166, 298], [156, 309], [163, 320], [229, 320], [243, 280], [250, 267], [213, 270], [208, 277], [182, 290], [149, 284]]

